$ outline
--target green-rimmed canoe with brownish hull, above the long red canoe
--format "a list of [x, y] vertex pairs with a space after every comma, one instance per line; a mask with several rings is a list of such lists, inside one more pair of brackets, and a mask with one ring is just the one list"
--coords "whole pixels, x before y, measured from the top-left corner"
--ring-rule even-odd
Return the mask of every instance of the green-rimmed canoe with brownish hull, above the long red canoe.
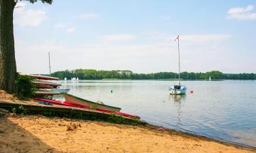
[[90, 107], [96, 107], [98, 109], [105, 109], [105, 110], [115, 111], [115, 112], [119, 112], [121, 110], [121, 108], [119, 108], [119, 107], [113, 107], [110, 105], [104, 105], [102, 103], [96, 103], [94, 101], [88, 101], [85, 99], [81, 99], [79, 97], [75, 97], [74, 95], [70, 95], [68, 93], [65, 93], [63, 96], [65, 97], [66, 101], [68, 101], [70, 103], [76, 103], [79, 105], [86, 105], [86, 106], [90, 106]]

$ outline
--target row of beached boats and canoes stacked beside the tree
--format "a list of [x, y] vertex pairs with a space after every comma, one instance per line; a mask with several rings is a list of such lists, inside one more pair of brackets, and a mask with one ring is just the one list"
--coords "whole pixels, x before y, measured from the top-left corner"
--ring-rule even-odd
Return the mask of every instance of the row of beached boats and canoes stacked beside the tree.
[[[50, 103], [53, 105], [64, 105], [68, 107], [74, 107], [79, 109], [93, 109], [98, 112], [107, 113], [107, 114], [117, 114], [121, 116], [126, 116], [130, 118], [140, 118], [136, 115], [126, 114], [120, 112], [121, 108], [114, 107], [110, 105], [105, 105], [104, 103], [97, 103], [94, 101], [88, 101], [80, 97], [68, 94], [70, 89], [59, 88], [61, 84], [56, 81], [59, 78], [48, 77], [43, 75], [29, 75], [32, 78], [35, 78], [33, 84], [38, 90], [35, 92], [38, 98], [33, 100], [38, 103]], [[54, 99], [54, 95], [58, 95], [62, 100]], [[42, 98], [43, 97], [43, 98]]]

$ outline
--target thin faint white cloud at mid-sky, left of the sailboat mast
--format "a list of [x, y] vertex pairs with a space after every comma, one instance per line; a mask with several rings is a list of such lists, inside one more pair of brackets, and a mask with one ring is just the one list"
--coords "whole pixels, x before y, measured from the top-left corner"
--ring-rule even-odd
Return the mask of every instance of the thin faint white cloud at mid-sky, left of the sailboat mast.
[[131, 34], [103, 35], [100, 39], [102, 41], [130, 41], [136, 39], [136, 36]]

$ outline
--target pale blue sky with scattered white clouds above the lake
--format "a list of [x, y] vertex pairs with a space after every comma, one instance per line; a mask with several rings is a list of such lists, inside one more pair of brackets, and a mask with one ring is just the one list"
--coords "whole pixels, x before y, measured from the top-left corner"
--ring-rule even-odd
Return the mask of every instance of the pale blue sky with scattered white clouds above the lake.
[[256, 73], [256, 1], [20, 1], [14, 9], [17, 71], [128, 69]]

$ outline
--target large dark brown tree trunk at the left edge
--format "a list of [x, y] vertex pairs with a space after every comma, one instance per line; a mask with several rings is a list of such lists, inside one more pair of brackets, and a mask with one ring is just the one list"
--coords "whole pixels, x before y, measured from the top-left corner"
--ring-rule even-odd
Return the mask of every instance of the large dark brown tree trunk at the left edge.
[[0, 0], [0, 88], [15, 91], [14, 0]]

